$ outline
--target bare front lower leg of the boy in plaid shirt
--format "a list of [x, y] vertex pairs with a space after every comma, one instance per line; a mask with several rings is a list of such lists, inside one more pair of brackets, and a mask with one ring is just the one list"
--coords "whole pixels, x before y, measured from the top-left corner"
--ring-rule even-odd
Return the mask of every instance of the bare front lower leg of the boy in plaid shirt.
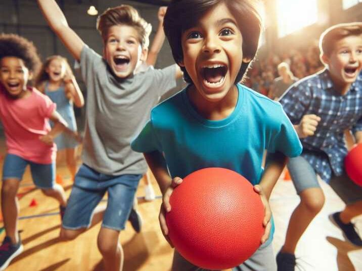
[[290, 218], [282, 252], [294, 254], [299, 239], [320, 212], [324, 202], [325, 197], [321, 188], [308, 188], [300, 193], [300, 203]]

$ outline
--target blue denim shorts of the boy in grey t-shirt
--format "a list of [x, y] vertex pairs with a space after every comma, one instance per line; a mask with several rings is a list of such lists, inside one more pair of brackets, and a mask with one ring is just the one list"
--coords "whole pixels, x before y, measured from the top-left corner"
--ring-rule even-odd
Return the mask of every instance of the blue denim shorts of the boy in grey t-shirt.
[[105, 175], [83, 164], [75, 176], [63, 228], [77, 230], [91, 226], [94, 209], [107, 192], [102, 227], [123, 230], [141, 178], [142, 175]]

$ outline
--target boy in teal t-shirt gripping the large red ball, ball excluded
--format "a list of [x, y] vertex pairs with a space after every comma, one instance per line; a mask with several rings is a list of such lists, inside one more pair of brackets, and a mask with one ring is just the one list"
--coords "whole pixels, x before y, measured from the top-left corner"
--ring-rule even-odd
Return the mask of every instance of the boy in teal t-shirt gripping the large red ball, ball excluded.
[[[144, 152], [163, 194], [159, 216], [163, 234], [169, 241], [164, 213], [182, 178], [202, 168], [228, 168], [255, 185], [265, 210], [260, 240], [265, 244], [236, 268], [274, 270], [268, 198], [286, 155], [297, 156], [302, 148], [279, 103], [237, 84], [257, 51], [259, 7], [249, 0], [202, 5], [171, 1], [164, 29], [189, 85], [152, 110], [150, 121], [131, 144], [133, 150]], [[196, 269], [175, 251], [172, 270]]]

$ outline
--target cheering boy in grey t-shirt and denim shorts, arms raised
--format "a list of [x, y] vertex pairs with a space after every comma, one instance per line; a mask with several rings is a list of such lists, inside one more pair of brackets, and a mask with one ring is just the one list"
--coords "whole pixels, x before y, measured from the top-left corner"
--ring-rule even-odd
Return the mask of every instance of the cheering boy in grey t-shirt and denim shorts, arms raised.
[[[54, 0], [38, 0], [50, 27], [73, 57], [80, 61], [87, 88], [83, 165], [68, 199], [60, 236], [74, 239], [103, 219], [98, 248], [106, 270], [121, 270], [119, 232], [128, 219], [135, 191], [147, 164], [130, 149], [131, 139], [149, 118], [158, 97], [176, 86], [176, 65], [135, 74], [147, 53], [150, 25], [130, 6], [106, 10], [97, 29], [103, 57], [88, 48], [68, 26]], [[108, 192], [107, 208], [94, 211]]]

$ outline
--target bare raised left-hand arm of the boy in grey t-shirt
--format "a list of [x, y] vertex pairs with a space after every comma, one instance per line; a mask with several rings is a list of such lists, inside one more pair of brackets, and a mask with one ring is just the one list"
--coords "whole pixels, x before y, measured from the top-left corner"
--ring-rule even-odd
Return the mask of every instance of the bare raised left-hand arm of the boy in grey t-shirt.
[[80, 52], [84, 46], [81, 38], [68, 26], [67, 20], [55, 0], [37, 0], [41, 12], [49, 26], [62, 40], [76, 60], [80, 60]]

